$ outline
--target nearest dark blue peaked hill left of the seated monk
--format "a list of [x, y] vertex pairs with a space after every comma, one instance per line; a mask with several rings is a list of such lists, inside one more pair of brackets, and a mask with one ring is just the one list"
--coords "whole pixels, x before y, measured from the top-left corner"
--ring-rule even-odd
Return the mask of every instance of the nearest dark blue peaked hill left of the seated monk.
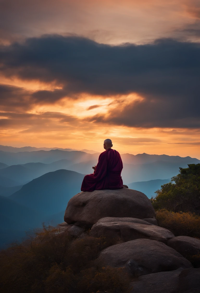
[[9, 198], [41, 212], [44, 217], [56, 214], [65, 209], [74, 194], [80, 192], [83, 177], [69, 170], [49, 172], [23, 185]]

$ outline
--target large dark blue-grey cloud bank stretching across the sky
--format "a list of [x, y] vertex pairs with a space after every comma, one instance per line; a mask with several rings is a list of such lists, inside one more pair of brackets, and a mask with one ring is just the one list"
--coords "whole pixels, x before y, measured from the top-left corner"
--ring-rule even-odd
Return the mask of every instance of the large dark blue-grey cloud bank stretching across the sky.
[[[135, 127], [200, 127], [199, 43], [173, 39], [117, 46], [80, 37], [46, 35], [1, 46], [1, 71], [24, 80], [57, 82], [62, 89], [38, 91], [36, 102], [80, 93], [138, 93], [143, 100], [118, 104], [91, 121]], [[128, 105], [127, 105], [128, 104]]]

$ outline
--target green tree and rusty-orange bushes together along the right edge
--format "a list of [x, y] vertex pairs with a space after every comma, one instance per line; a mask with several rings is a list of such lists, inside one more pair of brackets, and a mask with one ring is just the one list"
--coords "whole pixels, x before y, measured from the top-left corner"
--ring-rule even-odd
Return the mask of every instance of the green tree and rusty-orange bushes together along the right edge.
[[200, 238], [200, 164], [180, 168], [151, 198], [159, 226], [175, 236]]

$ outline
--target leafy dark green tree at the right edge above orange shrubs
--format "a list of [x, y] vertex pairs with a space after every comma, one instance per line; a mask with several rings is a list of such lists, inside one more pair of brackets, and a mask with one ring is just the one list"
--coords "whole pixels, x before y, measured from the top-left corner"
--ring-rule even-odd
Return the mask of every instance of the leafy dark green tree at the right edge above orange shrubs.
[[179, 168], [180, 173], [170, 183], [161, 185], [156, 197], [151, 198], [154, 209], [200, 214], [200, 164]]

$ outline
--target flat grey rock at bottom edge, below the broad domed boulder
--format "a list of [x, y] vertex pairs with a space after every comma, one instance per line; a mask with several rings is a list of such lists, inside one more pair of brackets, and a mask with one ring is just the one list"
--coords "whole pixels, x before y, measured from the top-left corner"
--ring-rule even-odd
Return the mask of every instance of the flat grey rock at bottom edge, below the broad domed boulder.
[[183, 269], [140, 276], [130, 283], [130, 293], [174, 293], [179, 287], [179, 275]]

